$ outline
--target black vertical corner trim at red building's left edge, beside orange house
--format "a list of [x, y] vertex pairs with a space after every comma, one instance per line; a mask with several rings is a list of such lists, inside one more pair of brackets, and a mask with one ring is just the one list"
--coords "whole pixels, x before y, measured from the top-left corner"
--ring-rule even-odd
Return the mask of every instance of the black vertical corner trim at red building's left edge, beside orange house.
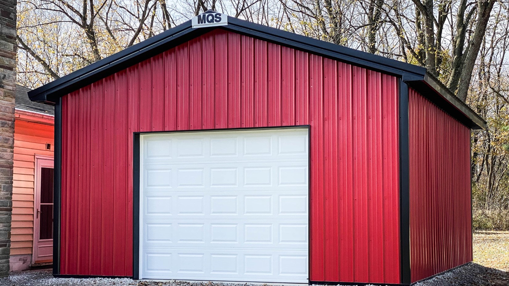
[[62, 188], [62, 98], [55, 104], [53, 161], [53, 275], [60, 274], [60, 221]]

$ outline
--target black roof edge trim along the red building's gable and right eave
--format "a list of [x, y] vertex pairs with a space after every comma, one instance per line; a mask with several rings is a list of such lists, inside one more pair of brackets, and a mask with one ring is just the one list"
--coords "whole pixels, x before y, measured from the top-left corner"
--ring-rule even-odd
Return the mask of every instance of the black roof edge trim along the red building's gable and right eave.
[[[458, 110], [450, 114], [456, 118], [462, 118], [459, 120], [465, 125], [475, 129], [486, 128], [486, 122], [478, 115], [476, 115], [475, 112], [473, 112], [471, 109], [468, 107], [459, 108], [461, 106], [466, 106], [464, 103], [461, 104], [461, 100], [459, 101], [460, 103], [456, 102], [456, 100], [459, 99], [454, 97], [454, 95], [451, 97], [450, 93], [447, 92], [446, 89], [436, 89], [435, 87], [437, 87], [438, 84], [434, 84], [433, 81], [430, 81], [431, 83], [426, 83], [428, 82], [426, 81], [426, 68], [384, 58], [383, 56], [375, 55], [372, 53], [367, 53], [325, 41], [297, 35], [294, 33], [279, 30], [277, 28], [252, 23], [230, 16], [228, 17], [228, 25], [217, 27], [213, 26], [192, 28], [191, 20], [188, 20], [176, 27], [164, 31], [161, 34], [128, 47], [120, 52], [112, 54], [107, 58], [81, 68], [66, 76], [49, 82], [42, 87], [29, 92], [29, 97], [32, 101], [49, 103], [57, 102], [60, 97], [70, 92], [80, 89], [90, 83], [93, 83], [118, 71], [126, 69], [136, 63], [149, 59], [156, 54], [176, 47], [186, 41], [199, 37], [200, 35], [206, 34], [215, 28], [221, 28], [223, 30], [232, 31], [253, 38], [263, 39], [283, 46], [288, 46], [313, 54], [322, 55], [326, 58], [401, 77], [415, 89], [421, 90], [421, 93], [429, 94], [431, 91], [433, 91], [433, 93], [437, 93], [437, 96], [431, 97], [439, 97], [443, 100], [432, 101], [444, 110], [453, 105]], [[419, 82], [428, 85], [428, 89], [426, 86], [419, 85]]]

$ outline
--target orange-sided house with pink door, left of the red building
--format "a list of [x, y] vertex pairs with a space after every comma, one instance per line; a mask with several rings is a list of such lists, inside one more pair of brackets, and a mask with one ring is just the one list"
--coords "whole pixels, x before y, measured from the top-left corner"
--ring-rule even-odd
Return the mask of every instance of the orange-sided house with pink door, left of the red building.
[[11, 271], [53, 262], [54, 107], [16, 86]]

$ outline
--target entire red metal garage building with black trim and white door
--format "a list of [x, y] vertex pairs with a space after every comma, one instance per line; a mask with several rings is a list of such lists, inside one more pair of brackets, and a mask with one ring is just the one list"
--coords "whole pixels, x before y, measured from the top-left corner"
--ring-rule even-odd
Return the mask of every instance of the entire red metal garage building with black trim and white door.
[[55, 104], [55, 276], [410, 284], [472, 260], [470, 129], [426, 69], [209, 12]]

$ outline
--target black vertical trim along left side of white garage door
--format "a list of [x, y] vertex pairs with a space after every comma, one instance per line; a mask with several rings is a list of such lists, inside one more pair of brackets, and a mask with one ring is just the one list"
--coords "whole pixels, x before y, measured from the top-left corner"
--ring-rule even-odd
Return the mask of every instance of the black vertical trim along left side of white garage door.
[[139, 134], [133, 133], [132, 151], [132, 277], [139, 279]]

